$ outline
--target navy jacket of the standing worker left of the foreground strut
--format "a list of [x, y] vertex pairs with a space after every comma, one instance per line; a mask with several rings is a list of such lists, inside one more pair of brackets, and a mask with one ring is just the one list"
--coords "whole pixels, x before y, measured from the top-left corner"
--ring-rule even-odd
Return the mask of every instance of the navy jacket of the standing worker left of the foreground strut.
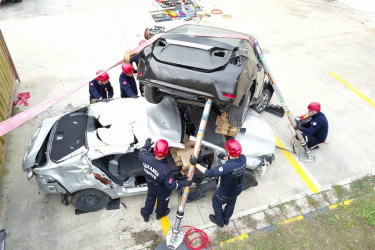
[[147, 149], [147, 147], [143, 146], [139, 150], [138, 158], [143, 163], [148, 189], [152, 188], [153, 192], [158, 193], [157, 196], [161, 198], [169, 197], [172, 190], [182, 189], [186, 185], [186, 181], [174, 180], [167, 161], [165, 159], [156, 159]]

